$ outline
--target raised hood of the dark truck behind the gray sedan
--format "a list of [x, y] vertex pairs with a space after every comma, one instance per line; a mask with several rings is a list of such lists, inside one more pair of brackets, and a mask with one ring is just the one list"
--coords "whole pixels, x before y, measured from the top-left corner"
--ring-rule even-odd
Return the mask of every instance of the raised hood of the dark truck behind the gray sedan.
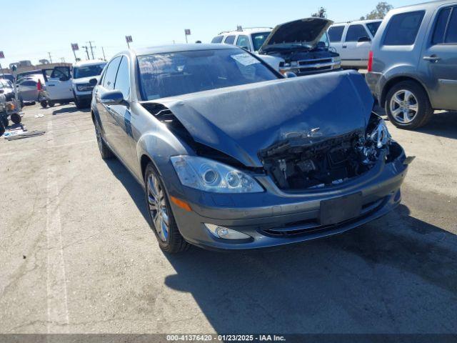
[[305, 18], [276, 26], [267, 37], [261, 51], [275, 44], [309, 44], [316, 46], [333, 21], [323, 18]]

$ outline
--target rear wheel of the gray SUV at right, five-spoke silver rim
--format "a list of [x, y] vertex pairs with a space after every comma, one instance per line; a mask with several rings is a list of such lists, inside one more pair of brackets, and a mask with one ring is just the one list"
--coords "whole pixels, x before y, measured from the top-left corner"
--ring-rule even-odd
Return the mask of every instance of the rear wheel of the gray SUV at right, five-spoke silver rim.
[[400, 129], [417, 129], [433, 114], [426, 91], [413, 81], [393, 86], [386, 96], [386, 113], [393, 125]]

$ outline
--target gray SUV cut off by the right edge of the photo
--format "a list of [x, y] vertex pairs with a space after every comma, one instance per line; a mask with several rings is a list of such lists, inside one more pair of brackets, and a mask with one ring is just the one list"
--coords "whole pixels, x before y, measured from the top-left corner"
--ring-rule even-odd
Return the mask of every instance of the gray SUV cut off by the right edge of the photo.
[[434, 109], [457, 110], [457, 2], [389, 11], [371, 47], [366, 81], [401, 129], [423, 126]]

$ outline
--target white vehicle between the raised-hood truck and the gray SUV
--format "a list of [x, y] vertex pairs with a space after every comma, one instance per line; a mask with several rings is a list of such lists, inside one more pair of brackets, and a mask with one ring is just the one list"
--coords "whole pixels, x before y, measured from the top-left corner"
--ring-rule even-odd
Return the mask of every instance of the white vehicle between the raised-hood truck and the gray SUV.
[[366, 69], [368, 51], [371, 48], [376, 31], [382, 20], [359, 20], [333, 24], [328, 28], [330, 46], [341, 57], [341, 67], [348, 69]]

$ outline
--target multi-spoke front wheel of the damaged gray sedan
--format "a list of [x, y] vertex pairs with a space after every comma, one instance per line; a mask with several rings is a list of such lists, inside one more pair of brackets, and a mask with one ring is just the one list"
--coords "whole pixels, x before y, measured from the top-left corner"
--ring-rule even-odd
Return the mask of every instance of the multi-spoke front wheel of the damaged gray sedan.
[[189, 243], [181, 236], [176, 225], [164, 183], [151, 162], [146, 166], [144, 182], [151, 229], [156, 234], [160, 249], [171, 254], [189, 249]]

